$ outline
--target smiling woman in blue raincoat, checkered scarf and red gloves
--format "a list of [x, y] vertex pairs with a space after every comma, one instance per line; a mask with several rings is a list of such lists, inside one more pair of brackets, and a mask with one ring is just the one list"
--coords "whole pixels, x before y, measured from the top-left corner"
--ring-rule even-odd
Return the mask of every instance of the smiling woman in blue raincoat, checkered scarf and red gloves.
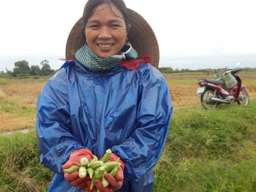
[[[127, 42], [133, 25], [123, 1], [89, 0], [79, 24], [85, 45], [49, 79], [37, 100], [40, 161], [53, 172], [48, 191], [91, 191], [89, 177], [63, 169], [79, 165], [81, 157], [101, 158], [108, 148], [109, 161], [120, 157], [122, 166], [116, 177], [104, 176], [108, 187], [96, 179], [92, 191], [153, 191], [152, 168], [172, 116], [168, 86], [147, 57], [137, 60]], [[71, 58], [74, 50], [68, 50]]]

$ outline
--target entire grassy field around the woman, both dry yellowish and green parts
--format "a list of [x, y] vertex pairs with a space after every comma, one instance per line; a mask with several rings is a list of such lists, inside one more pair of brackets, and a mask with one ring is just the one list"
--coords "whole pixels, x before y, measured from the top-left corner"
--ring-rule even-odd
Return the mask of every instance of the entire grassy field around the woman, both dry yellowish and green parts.
[[[248, 106], [223, 104], [207, 111], [195, 94], [200, 76], [165, 76], [174, 109], [164, 152], [154, 167], [154, 191], [255, 192], [256, 99], [252, 97]], [[255, 76], [244, 79], [250, 96], [255, 94]], [[35, 99], [44, 83], [40, 79], [0, 82], [2, 133], [9, 128], [30, 130], [0, 136], [1, 192], [46, 191], [51, 180], [51, 172], [39, 162], [35, 134]], [[190, 88], [182, 92], [186, 86]]]

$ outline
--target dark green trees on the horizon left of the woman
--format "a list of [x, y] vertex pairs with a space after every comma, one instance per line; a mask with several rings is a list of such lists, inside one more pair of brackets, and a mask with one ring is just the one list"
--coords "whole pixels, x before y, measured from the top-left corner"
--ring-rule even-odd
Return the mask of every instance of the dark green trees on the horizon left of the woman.
[[0, 77], [26, 78], [31, 76], [51, 76], [57, 71], [51, 68], [48, 60], [41, 61], [40, 66], [41, 67], [39, 67], [39, 65], [31, 65], [31, 67], [29, 67], [28, 61], [17, 61], [14, 63], [13, 71], [6, 68], [6, 72], [3, 70], [0, 72]]

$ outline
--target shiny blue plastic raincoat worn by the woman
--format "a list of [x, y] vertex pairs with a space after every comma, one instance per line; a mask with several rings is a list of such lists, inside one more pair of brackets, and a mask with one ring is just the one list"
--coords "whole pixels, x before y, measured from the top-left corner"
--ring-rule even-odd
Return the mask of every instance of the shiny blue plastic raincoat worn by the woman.
[[125, 164], [118, 191], [153, 191], [156, 165], [172, 116], [166, 81], [148, 63], [138, 70], [116, 66], [90, 72], [67, 61], [37, 100], [40, 162], [52, 170], [48, 191], [79, 191], [63, 177], [70, 153], [89, 148], [101, 158], [108, 148]]

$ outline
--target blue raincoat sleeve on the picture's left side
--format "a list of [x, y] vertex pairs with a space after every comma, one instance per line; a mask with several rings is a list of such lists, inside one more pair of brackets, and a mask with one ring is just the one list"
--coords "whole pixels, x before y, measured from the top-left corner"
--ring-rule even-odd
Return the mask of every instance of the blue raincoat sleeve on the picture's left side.
[[36, 102], [40, 162], [55, 173], [74, 150], [84, 148], [70, 133], [67, 74], [62, 68], [45, 84]]

